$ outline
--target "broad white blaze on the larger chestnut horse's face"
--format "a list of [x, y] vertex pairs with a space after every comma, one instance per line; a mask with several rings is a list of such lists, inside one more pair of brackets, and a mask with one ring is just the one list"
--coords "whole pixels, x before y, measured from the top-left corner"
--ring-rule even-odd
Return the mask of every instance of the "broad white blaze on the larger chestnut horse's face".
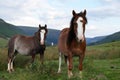
[[77, 38], [79, 39], [79, 41], [83, 38], [83, 25], [82, 25], [82, 17], [79, 17], [77, 20]]

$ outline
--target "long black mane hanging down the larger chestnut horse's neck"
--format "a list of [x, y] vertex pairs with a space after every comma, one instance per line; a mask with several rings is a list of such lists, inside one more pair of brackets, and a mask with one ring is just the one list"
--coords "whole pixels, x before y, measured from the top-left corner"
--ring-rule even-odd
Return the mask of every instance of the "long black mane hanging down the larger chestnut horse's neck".
[[72, 42], [72, 40], [76, 37], [75, 33], [74, 33], [74, 19], [75, 17], [72, 17], [71, 21], [70, 21], [70, 28], [69, 28], [69, 32], [68, 32], [68, 37], [67, 37], [67, 45], [69, 46]]

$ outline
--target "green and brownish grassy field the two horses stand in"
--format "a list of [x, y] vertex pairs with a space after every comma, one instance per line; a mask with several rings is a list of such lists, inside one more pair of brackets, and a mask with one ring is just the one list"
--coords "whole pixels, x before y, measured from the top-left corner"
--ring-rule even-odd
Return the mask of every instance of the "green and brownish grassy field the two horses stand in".
[[[44, 65], [40, 64], [39, 55], [30, 63], [30, 56], [17, 55], [15, 71], [8, 73], [7, 48], [0, 48], [0, 80], [68, 80], [67, 65], [62, 62], [62, 73], [57, 74], [57, 47], [47, 47]], [[78, 58], [73, 59], [73, 74], [69, 80], [78, 77]], [[88, 46], [83, 62], [83, 80], [120, 80], [120, 41], [97, 46]]]

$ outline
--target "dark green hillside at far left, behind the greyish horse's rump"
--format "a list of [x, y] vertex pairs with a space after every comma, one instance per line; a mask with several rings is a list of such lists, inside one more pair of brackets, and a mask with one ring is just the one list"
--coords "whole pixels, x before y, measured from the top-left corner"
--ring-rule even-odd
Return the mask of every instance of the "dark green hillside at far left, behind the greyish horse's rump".
[[24, 32], [20, 28], [0, 19], [0, 37], [9, 38], [15, 34], [24, 34]]

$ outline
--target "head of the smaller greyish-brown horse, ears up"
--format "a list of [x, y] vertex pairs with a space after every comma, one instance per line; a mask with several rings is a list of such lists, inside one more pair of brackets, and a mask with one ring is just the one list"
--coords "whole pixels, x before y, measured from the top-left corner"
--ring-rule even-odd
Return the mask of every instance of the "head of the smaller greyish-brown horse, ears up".
[[40, 45], [45, 45], [45, 39], [46, 39], [46, 34], [47, 34], [47, 25], [41, 26], [39, 24], [39, 30], [35, 33], [36, 37], [38, 38]]

